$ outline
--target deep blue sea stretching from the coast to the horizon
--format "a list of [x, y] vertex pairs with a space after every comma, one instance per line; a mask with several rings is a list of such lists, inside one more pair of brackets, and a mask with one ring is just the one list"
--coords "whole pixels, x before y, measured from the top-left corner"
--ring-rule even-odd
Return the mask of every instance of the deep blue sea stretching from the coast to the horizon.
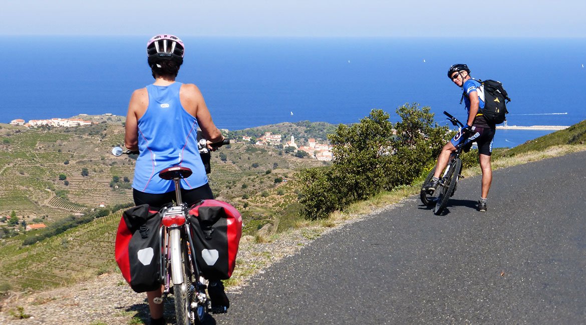
[[[0, 122], [126, 115], [134, 89], [153, 81], [145, 37], [4, 37]], [[586, 39], [205, 38], [183, 39], [178, 81], [195, 83], [216, 125], [355, 123], [404, 103], [466, 119], [454, 63], [503, 82], [509, 125], [573, 125], [586, 119]], [[9, 46], [7, 46], [9, 45]], [[292, 113], [292, 115], [291, 115]], [[495, 147], [550, 131], [498, 130]]]

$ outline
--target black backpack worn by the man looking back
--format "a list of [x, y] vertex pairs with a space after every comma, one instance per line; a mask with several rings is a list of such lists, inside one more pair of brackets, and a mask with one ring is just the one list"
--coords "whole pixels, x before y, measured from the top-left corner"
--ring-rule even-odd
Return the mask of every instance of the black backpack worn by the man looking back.
[[496, 80], [478, 80], [481, 91], [484, 93], [484, 108], [482, 115], [488, 123], [500, 124], [507, 119], [509, 113], [506, 104], [511, 101], [503, 84]]

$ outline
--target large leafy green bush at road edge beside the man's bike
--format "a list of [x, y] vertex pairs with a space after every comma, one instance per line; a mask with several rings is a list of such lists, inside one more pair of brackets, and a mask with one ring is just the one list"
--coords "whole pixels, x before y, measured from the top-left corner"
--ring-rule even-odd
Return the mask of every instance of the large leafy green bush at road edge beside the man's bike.
[[373, 109], [353, 125], [328, 134], [334, 156], [331, 167], [311, 168], [299, 175], [299, 202], [309, 219], [398, 185], [408, 185], [429, 167], [449, 139], [447, 127], [434, 122], [430, 108], [417, 103], [397, 109], [393, 128], [389, 114]]

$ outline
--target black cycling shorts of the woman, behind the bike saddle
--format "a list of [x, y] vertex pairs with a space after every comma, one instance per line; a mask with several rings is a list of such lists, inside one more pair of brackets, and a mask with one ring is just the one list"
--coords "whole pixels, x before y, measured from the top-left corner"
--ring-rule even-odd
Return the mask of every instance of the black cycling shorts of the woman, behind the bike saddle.
[[[133, 189], [132, 197], [135, 205], [148, 204], [151, 210], [160, 210], [163, 205], [175, 200], [175, 191], [167, 193], [145, 193]], [[213, 199], [214, 195], [209, 184], [199, 186], [194, 189], [181, 189], [181, 199], [188, 205], [198, 202], [199, 200]]]

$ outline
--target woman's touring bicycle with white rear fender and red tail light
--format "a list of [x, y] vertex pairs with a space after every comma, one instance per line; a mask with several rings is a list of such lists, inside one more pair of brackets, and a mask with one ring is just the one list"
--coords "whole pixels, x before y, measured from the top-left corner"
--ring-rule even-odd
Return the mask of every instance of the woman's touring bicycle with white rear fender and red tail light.
[[[226, 139], [210, 146], [217, 148], [224, 144], [230, 144], [230, 140]], [[124, 151], [121, 147], [114, 147], [112, 154], [119, 157], [122, 154], [138, 154], [138, 151]], [[207, 281], [202, 276], [195, 250], [192, 249], [195, 246], [187, 217], [190, 207], [183, 202], [180, 191], [180, 179], [188, 178], [191, 174], [189, 168], [181, 166], [165, 168], [159, 172], [159, 177], [172, 180], [175, 184], [176, 201], [175, 204], [159, 210], [162, 215], [162, 224], [159, 228], [159, 274], [164, 289], [163, 296], [155, 298], [154, 301], [163, 303], [169, 294], [173, 295], [176, 323], [180, 325], [203, 324], [209, 312], [226, 312], [226, 308], [212, 310], [210, 299], [206, 295]]]

